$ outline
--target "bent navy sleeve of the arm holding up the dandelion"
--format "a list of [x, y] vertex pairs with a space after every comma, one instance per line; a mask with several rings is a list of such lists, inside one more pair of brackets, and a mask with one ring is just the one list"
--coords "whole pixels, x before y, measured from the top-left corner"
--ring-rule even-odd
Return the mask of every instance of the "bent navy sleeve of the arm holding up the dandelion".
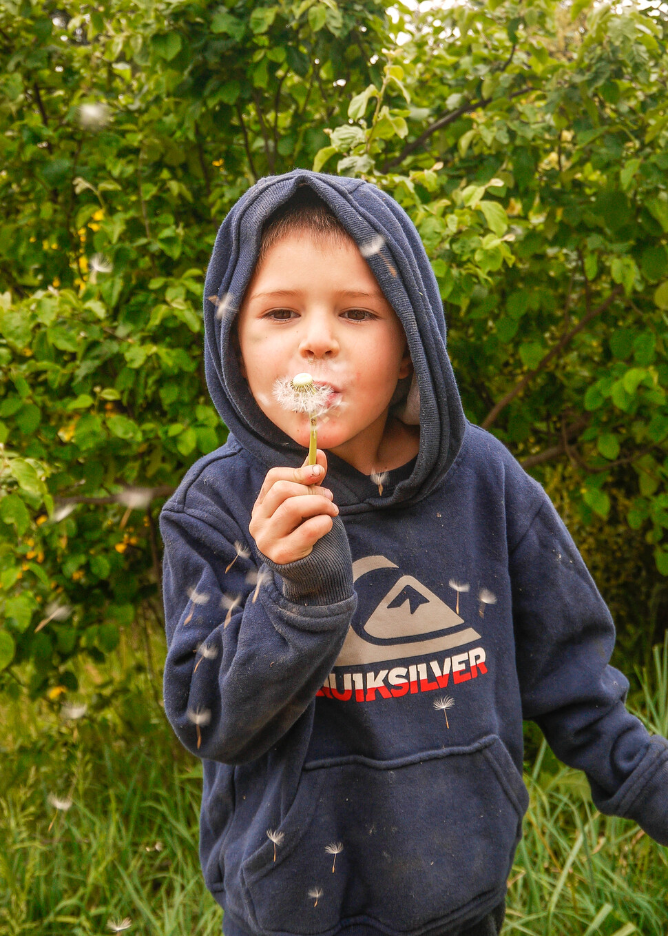
[[[226, 764], [254, 760], [312, 702], [356, 607], [350, 548], [337, 521], [307, 557], [309, 568], [300, 560], [292, 574], [298, 563], [258, 570], [238, 555], [239, 531], [220, 511], [204, 519], [163, 510], [165, 712], [191, 753]], [[309, 571], [324, 570], [332, 550], [337, 571], [313, 589]]]

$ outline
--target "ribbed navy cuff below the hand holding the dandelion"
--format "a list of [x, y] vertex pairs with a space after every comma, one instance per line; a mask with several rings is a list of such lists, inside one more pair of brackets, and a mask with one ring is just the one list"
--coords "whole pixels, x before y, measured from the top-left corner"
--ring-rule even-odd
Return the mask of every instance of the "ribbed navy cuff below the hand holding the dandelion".
[[283, 597], [294, 605], [336, 605], [353, 595], [353, 559], [339, 517], [312, 551], [294, 563], [274, 563], [260, 552]]

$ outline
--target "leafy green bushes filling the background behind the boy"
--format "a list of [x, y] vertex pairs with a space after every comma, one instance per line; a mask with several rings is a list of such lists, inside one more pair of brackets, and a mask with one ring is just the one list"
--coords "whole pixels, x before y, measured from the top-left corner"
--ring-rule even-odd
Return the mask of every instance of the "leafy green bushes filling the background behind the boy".
[[295, 167], [411, 214], [468, 416], [624, 586], [614, 609], [662, 607], [667, 37], [653, 0], [1, 0], [0, 687], [30, 659], [34, 695], [76, 690], [73, 656], [160, 621], [159, 506], [225, 441], [212, 242]]

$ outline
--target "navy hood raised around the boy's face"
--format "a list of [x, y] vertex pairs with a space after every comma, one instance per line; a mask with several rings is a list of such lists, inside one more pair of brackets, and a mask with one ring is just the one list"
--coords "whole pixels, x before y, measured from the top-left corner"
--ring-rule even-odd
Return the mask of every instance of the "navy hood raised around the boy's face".
[[[363, 256], [375, 249], [367, 262], [399, 316], [414, 365], [409, 399], [408, 386], [399, 387], [396, 394], [399, 418], [417, 422], [419, 402], [420, 447], [409, 476], [401, 476], [399, 470], [396, 487], [380, 497], [367, 475], [327, 452], [327, 486], [341, 513], [416, 503], [443, 480], [457, 457], [466, 418], [445, 351], [443, 304], [425, 248], [406, 212], [375, 185], [295, 169], [261, 179], [229, 212], [213, 245], [204, 288], [204, 354], [211, 400], [240, 446], [268, 469], [304, 461], [306, 450], [275, 426], [254, 401], [230, 339], [254, 271], [262, 227], [304, 183], [336, 214]], [[382, 247], [377, 249], [379, 244]]]

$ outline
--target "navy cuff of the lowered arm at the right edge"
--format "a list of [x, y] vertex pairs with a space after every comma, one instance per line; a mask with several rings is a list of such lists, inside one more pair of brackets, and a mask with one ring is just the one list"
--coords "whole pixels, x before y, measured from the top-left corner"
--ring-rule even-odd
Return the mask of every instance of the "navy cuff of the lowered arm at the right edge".
[[652, 735], [645, 756], [614, 797], [593, 797], [600, 812], [632, 819], [660, 845], [668, 845], [668, 740]]

